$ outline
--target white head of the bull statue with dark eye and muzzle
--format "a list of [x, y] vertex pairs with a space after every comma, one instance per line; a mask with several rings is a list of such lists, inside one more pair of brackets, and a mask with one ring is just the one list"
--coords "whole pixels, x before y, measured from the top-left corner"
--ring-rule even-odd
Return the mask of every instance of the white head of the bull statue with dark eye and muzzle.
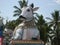
[[31, 21], [32, 19], [34, 19], [33, 12], [36, 11], [37, 9], [39, 9], [39, 7], [34, 8], [33, 3], [29, 6], [24, 6], [22, 8], [20, 19], [25, 20], [25, 21]]

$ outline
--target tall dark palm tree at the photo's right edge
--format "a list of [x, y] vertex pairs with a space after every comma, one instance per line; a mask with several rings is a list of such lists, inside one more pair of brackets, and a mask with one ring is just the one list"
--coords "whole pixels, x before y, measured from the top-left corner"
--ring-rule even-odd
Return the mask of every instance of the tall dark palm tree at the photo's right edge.
[[[59, 11], [55, 11], [54, 13], [52, 13], [52, 19], [51, 18], [47, 18], [47, 19], [50, 19], [50, 26], [53, 27], [53, 30], [51, 30], [51, 33], [50, 34], [53, 34], [52, 36], [50, 36], [50, 39], [51, 39], [51, 42], [53, 40], [56, 41], [56, 45], [58, 45], [58, 41], [59, 41], [59, 24], [60, 24], [60, 19], [59, 19]], [[54, 41], [54, 42], [55, 42]], [[53, 43], [54, 43], [53, 42]]]

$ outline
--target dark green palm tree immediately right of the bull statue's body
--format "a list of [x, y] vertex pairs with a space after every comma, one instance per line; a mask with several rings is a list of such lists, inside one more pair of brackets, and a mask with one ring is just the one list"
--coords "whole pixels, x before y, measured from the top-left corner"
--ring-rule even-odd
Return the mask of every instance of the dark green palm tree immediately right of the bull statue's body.
[[46, 44], [47, 40], [48, 40], [48, 32], [50, 30], [50, 28], [48, 27], [46, 21], [43, 19], [43, 16], [39, 16], [37, 14], [37, 18], [36, 19], [36, 25], [37, 28], [40, 32], [40, 39], [44, 41], [44, 44]]

